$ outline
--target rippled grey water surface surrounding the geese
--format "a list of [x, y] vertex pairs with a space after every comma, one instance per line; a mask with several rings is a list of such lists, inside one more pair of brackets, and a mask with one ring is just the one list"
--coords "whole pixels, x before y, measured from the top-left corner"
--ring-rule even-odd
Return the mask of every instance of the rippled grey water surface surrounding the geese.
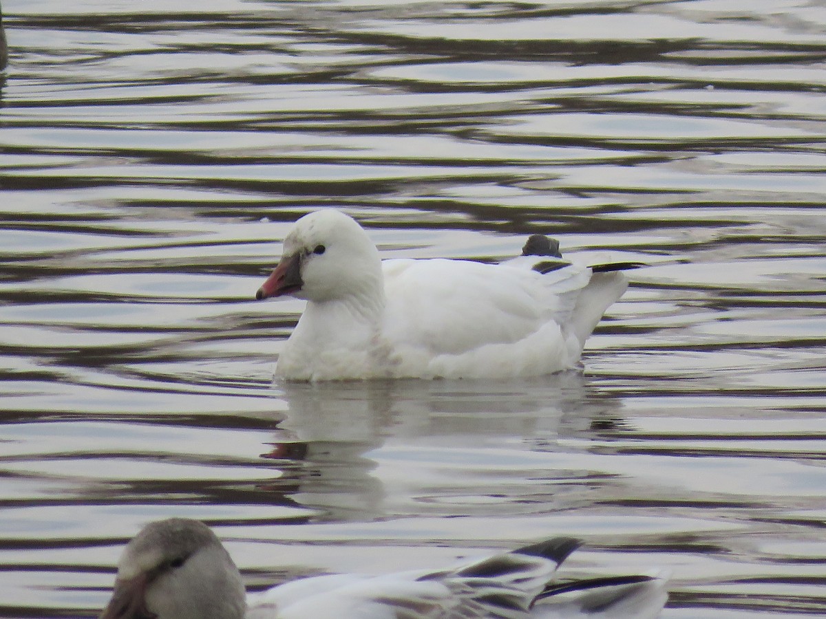
[[[581, 536], [664, 617], [826, 613], [822, 2], [5, 0], [0, 617], [200, 517], [250, 587]], [[651, 267], [584, 371], [271, 385], [289, 222]]]

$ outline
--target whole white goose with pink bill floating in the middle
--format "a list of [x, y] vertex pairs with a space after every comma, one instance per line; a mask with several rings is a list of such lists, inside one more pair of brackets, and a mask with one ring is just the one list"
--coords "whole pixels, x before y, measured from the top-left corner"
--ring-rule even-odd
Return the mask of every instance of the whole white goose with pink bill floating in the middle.
[[514, 378], [576, 366], [586, 338], [628, 286], [619, 269], [638, 265], [577, 265], [561, 258], [553, 239], [532, 239], [524, 252], [541, 256], [501, 264], [382, 261], [348, 215], [304, 215], [256, 295], [307, 300], [276, 375]]

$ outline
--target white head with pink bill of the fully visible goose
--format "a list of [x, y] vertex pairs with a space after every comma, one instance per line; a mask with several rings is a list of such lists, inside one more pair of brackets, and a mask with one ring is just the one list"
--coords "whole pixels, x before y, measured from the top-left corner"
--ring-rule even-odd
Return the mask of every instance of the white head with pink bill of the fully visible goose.
[[255, 298], [292, 295], [324, 302], [370, 295], [382, 285], [381, 258], [373, 241], [352, 217], [325, 209], [296, 221], [284, 239], [281, 262]]

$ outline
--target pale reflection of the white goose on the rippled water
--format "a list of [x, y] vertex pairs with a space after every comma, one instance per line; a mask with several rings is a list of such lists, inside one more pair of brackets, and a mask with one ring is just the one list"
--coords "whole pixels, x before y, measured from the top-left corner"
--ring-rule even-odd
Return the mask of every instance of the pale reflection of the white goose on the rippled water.
[[[592, 393], [578, 372], [500, 383], [386, 380], [280, 389], [287, 413], [263, 457], [284, 461], [281, 492], [290, 486], [292, 501], [335, 522], [547, 511], [548, 501], [561, 507], [576, 490], [572, 477], [590, 475], [554, 461], [571, 460], [567, 439], [624, 428], [619, 404]], [[534, 480], [527, 489], [519, 483], [526, 468]], [[520, 494], [526, 491], [530, 496]], [[499, 499], [485, 499], [492, 495]]]

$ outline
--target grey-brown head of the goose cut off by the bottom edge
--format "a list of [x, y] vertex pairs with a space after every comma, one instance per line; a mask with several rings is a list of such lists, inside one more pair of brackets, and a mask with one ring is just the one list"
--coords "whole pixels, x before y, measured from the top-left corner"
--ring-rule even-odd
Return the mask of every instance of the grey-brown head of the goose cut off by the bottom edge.
[[238, 568], [203, 522], [151, 522], [121, 555], [100, 619], [243, 619]]

